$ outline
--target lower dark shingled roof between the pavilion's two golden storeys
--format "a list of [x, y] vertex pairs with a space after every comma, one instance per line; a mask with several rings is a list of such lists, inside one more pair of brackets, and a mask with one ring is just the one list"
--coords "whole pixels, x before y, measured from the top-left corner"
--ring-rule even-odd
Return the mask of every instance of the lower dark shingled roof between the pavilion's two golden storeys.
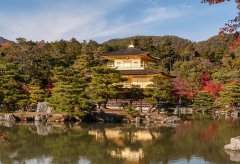
[[175, 76], [166, 75], [163, 72], [156, 72], [151, 70], [121, 70], [121, 75], [163, 75], [170, 78], [174, 78]]

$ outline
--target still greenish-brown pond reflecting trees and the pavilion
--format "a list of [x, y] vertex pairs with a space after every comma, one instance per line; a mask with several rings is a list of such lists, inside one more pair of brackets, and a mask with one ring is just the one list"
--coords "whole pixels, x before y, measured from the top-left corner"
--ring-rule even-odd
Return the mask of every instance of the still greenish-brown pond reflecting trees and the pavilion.
[[225, 152], [237, 119], [195, 118], [179, 126], [1, 123], [0, 163], [235, 163]]

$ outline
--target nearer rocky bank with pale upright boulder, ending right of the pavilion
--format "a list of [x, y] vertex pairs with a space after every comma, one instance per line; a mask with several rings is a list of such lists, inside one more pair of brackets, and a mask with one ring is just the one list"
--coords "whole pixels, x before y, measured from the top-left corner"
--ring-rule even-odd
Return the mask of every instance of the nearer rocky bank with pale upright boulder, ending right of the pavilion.
[[55, 113], [46, 102], [38, 103], [36, 112], [13, 112], [0, 114], [2, 122], [97, 122], [97, 123], [123, 123], [123, 124], [157, 124], [176, 126], [181, 122], [177, 116], [167, 117], [165, 114], [139, 113], [131, 115], [124, 110], [98, 110], [85, 112], [81, 116], [71, 116], [68, 113]]

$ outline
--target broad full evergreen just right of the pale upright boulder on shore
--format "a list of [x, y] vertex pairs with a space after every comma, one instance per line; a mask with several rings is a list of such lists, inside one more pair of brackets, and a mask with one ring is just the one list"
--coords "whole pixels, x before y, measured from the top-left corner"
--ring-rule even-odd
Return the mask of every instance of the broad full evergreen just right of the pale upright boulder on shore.
[[54, 88], [47, 100], [50, 106], [70, 115], [82, 115], [84, 111], [93, 110], [94, 106], [85, 92], [87, 78], [81, 71], [58, 67], [53, 74]]

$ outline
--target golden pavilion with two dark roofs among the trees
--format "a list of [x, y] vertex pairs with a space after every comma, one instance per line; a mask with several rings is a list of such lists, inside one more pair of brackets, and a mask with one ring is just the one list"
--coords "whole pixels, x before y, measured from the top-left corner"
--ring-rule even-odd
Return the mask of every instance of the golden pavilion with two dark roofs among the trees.
[[123, 50], [105, 53], [103, 57], [108, 59], [108, 67], [120, 70], [122, 76], [128, 79], [123, 83], [125, 88], [130, 88], [132, 86], [146, 88], [152, 83], [151, 79], [154, 76], [165, 78], [172, 77], [162, 72], [147, 69], [147, 64], [149, 62], [159, 60], [159, 58], [136, 49], [134, 45], [129, 45], [128, 48]]

